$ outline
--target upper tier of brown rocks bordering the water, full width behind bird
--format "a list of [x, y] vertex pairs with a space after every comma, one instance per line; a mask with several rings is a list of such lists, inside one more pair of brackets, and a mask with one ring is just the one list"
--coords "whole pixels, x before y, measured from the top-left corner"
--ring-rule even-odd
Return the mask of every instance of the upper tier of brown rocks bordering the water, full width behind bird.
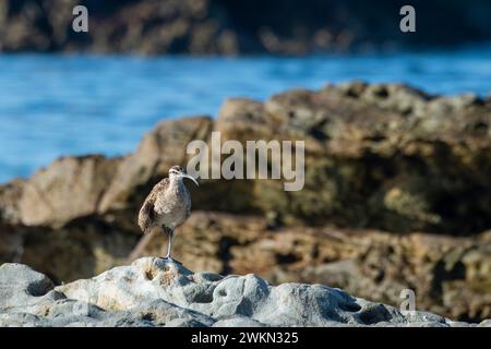
[[123, 159], [60, 159], [4, 188], [0, 212], [26, 226], [124, 213], [116, 220], [128, 217], [125, 226], [136, 228], [133, 215], [144, 193], [171, 164], [188, 161], [190, 141], [209, 142], [219, 131], [223, 142], [304, 141], [306, 184], [285, 192], [277, 180], [205, 180], [193, 191], [195, 208], [262, 213], [285, 225], [475, 233], [491, 227], [490, 116], [491, 100], [474, 95], [430, 96], [358, 82], [290, 91], [264, 103], [229, 99], [216, 121], [159, 123]]

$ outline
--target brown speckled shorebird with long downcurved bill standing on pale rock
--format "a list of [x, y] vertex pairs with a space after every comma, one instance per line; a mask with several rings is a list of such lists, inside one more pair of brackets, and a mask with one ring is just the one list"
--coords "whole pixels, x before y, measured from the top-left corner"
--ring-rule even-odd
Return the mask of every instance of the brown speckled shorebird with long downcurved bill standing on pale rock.
[[155, 228], [160, 228], [164, 233], [168, 233], [167, 254], [164, 258], [169, 261], [173, 261], [170, 257], [173, 229], [183, 224], [191, 214], [191, 195], [184, 185], [184, 178], [189, 178], [199, 185], [196, 180], [189, 176], [183, 168], [172, 166], [169, 169], [169, 177], [155, 184], [146, 196], [139, 214], [139, 226], [144, 233], [148, 233]]

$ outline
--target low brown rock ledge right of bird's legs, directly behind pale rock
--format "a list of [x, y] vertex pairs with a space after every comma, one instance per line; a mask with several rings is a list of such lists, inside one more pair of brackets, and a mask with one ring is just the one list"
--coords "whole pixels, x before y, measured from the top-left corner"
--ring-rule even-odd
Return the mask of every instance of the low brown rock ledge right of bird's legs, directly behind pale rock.
[[[417, 304], [453, 320], [491, 316], [491, 234], [396, 236], [363, 229], [283, 227], [261, 217], [195, 212], [177, 230], [175, 255], [193, 269], [254, 273], [273, 284], [326, 284], [351, 294], [399, 304], [411, 289]], [[158, 254], [155, 236], [142, 251]]]

